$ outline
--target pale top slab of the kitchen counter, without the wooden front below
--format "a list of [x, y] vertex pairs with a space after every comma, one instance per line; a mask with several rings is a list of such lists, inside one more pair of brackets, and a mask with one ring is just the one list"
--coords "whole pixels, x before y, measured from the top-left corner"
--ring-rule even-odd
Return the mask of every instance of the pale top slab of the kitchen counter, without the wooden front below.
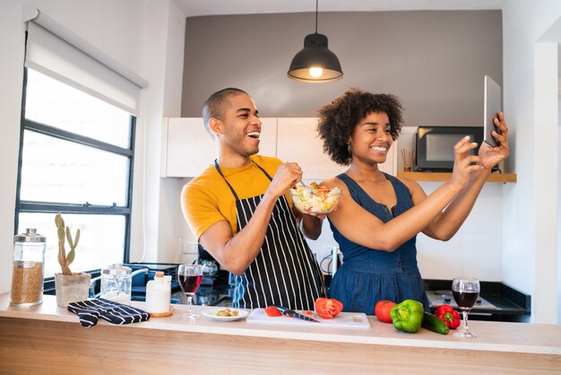
[[[32, 308], [9, 306], [9, 293], [0, 295], [0, 317], [30, 318], [69, 322], [79, 325], [78, 317], [72, 312], [56, 305], [56, 297], [45, 295], [43, 303]], [[143, 309], [144, 302], [133, 301], [134, 307]], [[142, 323], [134, 323], [122, 327], [156, 329], [180, 332], [192, 332], [217, 335], [273, 337], [294, 340], [312, 340], [333, 343], [383, 344], [399, 346], [415, 346], [445, 349], [463, 349], [490, 352], [510, 353], [543, 353], [561, 355], [561, 326], [529, 323], [507, 323], [470, 320], [472, 331], [479, 337], [466, 340], [451, 334], [442, 336], [427, 329], [415, 334], [407, 334], [396, 330], [393, 325], [382, 323], [375, 317], [368, 317], [370, 329], [348, 329], [341, 327], [308, 327], [299, 325], [276, 326], [247, 323], [245, 320], [221, 322], [203, 317], [204, 310], [217, 308], [193, 306], [194, 312], [201, 315], [194, 323], [177, 318], [186, 310], [186, 305], [172, 305], [173, 316], [168, 318], [150, 318]], [[249, 310], [251, 312], [251, 310]], [[99, 325], [114, 326], [102, 319]]]

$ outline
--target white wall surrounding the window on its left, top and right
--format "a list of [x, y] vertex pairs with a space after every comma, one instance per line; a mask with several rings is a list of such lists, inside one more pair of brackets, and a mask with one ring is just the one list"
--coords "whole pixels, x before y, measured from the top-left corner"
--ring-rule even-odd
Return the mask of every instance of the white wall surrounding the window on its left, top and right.
[[[181, 83], [177, 82], [177, 77], [183, 74], [185, 15], [173, 0], [2, 1], [0, 292], [10, 290], [12, 277], [13, 213], [22, 108], [23, 5], [39, 8], [149, 82], [149, 87], [142, 90], [137, 122], [132, 260], [142, 257], [144, 243], [147, 249], [144, 260], [159, 260], [159, 246], [164, 254], [161, 257], [167, 257], [170, 250], [166, 240], [173, 238], [173, 227], [167, 225], [171, 221], [168, 216], [177, 208], [162, 205], [157, 198], [160, 194], [166, 196], [167, 189], [166, 182], [160, 181], [160, 128], [161, 118], [177, 117], [180, 113]], [[163, 239], [163, 244], [159, 243], [159, 238]]]

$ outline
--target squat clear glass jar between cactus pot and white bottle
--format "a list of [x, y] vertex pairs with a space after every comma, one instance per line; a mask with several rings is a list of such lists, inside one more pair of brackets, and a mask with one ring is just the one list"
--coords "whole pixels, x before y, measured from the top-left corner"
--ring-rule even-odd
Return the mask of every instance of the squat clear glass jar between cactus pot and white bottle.
[[130, 267], [117, 263], [101, 270], [100, 298], [130, 305], [132, 286]]

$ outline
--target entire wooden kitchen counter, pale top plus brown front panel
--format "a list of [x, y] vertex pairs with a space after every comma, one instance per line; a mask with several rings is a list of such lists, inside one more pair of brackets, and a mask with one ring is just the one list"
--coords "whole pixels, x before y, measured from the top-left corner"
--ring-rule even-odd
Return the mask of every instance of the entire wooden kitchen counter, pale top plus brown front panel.
[[[133, 302], [138, 308], [144, 302]], [[0, 368], [9, 373], [435, 373], [443, 361], [454, 373], [558, 374], [561, 326], [470, 321], [479, 334], [461, 339], [421, 328], [407, 334], [367, 317], [369, 328], [277, 326], [246, 320], [194, 323], [173, 316], [117, 326], [78, 317], [45, 295], [32, 308], [9, 306], [0, 294]], [[194, 306], [202, 315], [216, 308]], [[452, 331], [453, 332], [453, 331]], [[48, 343], [48, 344], [46, 344]], [[513, 355], [514, 354], [514, 355]], [[27, 359], [27, 361], [26, 361]], [[33, 361], [29, 361], [33, 359]], [[54, 367], [56, 366], [56, 367]], [[533, 372], [532, 372], [533, 371]]]

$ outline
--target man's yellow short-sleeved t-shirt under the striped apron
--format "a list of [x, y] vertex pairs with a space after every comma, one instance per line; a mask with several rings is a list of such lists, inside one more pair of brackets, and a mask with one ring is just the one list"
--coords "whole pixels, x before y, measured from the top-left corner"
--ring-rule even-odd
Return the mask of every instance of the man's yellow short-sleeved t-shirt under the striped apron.
[[[255, 162], [250, 162], [243, 167], [220, 167], [239, 199], [261, 196], [271, 183], [263, 170], [274, 177], [282, 164], [280, 159], [270, 156], [253, 155], [251, 159]], [[260, 170], [255, 163], [263, 170]], [[288, 191], [285, 196], [291, 206]], [[229, 222], [232, 235], [237, 233], [236, 198], [214, 165], [209, 166], [200, 176], [183, 187], [181, 207], [196, 240], [199, 240], [203, 232], [213, 224], [222, 220]]]

